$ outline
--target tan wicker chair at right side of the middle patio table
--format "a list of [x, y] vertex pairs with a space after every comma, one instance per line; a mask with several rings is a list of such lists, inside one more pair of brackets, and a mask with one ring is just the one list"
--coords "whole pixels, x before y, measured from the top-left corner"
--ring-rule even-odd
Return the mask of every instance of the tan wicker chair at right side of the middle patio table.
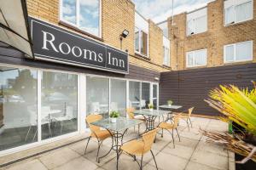
[[[168, 131], [172, 135], [173, 148], [175, 148], [173, 131], [176, 130], [176, 132], [177, 132], [177, 126], [178, 126], [178, 121], [180, 119], [180, 116], [181, 116], [181, 113], [179, 113], [178, 115], [174, 116], [173, 123], [171, 123], [171, 122], [160, 122], [160, 124], [158, 125], [158, 127], [160, 127], [162, 129], [161, 137], [163, 137], [163, 130]], [[171, 133], [170, 130], [172, 130], [172, 133]], [[179, 133], [178, 132], [177, 132], [177, 136], [178, 136], [178, 140], [180, 141], [180, 137], [179, 137]]]

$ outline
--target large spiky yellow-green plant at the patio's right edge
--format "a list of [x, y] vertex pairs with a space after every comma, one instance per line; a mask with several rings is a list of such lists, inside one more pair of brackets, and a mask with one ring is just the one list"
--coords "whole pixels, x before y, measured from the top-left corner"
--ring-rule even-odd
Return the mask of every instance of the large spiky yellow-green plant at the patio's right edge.
[[210, 99], [205, 100], [223, 114], [220, 120], [232, 122], [232, 127], [229, 129], [231, 134], [201, 132], [210, 141], [224, 144], [236, 153], [236, 169], [255, 169], [256, 165], [256, 83], [253, 84], [252, 90], [234, 85], [220, 86], [210, 92]]

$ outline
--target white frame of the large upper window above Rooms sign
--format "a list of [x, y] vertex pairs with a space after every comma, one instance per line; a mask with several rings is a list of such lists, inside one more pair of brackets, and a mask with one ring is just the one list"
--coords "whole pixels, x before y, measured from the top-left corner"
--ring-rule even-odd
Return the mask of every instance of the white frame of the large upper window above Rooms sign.
[[63, 22], [63, 23], [65, 23], [65, 24], [67, 24], [67, 25], [70, 25], [70, 26], [73, 26], [73, 27], [75, 27], [75, 28], [77, 28], [77, 29], [79, 29], [80, 31], [83, 31], [83, 32], [87, 32], [87, 33], [89, 33], [90, 35], [92, 35], [92, 36], [95, 36], [95, 37], [100, 37], [100, 38], [102, 38], [102, 0], [98, 0], [99, 1], [99, 35], [97, 36], [97, 35], [94, 35], [94, 34], [92, 34], [91, 32], [89, 32], [89, 31], [84, 31], [83, 29], [81, 29], [81, 27], [79, 26], [80, 25], [80, 22], [79, 22], [79, 18], [80, 18], [80, 5], [79, 5], [79, 1], [80, 0], [76, 0], [76, 25], [75, 24], [73, 24], [73, 23], [71, 23], [71, 22], [69, 22], [69, 21], [67, 21], [67, 20], [64, 20], [63, 19], [63, 13], [62, 13], [62, 4], [63, 4], [63, 0], [60, 0], [60, 4], [59, 4], [59, 11], [60, 11], [60, 14], [59, 14], [59, 20], [61, 20], [61, 22]]

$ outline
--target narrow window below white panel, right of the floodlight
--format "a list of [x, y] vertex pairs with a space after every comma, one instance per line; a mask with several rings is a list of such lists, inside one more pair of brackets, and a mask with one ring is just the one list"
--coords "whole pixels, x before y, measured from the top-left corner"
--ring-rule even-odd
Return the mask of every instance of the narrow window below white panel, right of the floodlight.
[[135, 29], [135, 50], [138, 54], [148, 55], [148, 34]]

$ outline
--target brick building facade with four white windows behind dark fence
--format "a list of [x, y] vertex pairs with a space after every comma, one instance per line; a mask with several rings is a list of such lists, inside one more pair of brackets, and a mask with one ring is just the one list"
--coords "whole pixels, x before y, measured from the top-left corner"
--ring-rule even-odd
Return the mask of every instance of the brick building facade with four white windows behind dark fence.
[[216, 0], [159, 24], [171, 39], [172, 70], [256, 61], [255, 0]]

